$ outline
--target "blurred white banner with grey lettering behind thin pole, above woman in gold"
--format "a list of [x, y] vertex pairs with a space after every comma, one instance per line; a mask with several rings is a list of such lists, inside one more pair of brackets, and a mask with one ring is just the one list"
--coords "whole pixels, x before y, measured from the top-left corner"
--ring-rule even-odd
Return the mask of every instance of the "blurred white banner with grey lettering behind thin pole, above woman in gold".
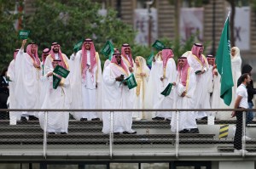
[[[151, 8], [151, 40], [153, 43], [157, 38], [157, 9]], [[148, 45], [148, 9], [137, 8], [134, 14], [134, 28], [137, 31], [135, 41], [142, 45]]]

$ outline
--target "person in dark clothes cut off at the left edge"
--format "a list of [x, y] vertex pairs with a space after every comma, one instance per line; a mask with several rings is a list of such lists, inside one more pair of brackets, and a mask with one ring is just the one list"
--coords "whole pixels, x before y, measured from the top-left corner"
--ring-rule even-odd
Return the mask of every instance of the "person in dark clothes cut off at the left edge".
[[[4, 68], [2, 70], [0, 76], [0, 109], [8, 109], [7, 107], [7, 99], [9, 98], [9, 83], [6, 79], [7, 77], [7, 70], [8, 68]], [[9, 112], [1, 111], [0, 112], [0, 119], [1, 120], [8, 120], [9, 119]]]

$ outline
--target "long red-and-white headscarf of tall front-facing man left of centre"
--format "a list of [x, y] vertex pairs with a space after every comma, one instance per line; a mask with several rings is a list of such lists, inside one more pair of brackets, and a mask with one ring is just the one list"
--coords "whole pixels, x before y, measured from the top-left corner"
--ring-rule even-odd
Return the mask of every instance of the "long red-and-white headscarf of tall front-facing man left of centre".
[[[88, 70], [87, 67], [87, 50], [85, 49], [85, 43], [90, 42], [90, 71], [94, 69], [96, 66], [96, 49], [94, 47], [94, 43], [90, 38], [85, 39], [83, 46], [82, 46], [82, 78], [85, 80], [86, 71]], [[92, 74], [92, 76], [94, 76]], [[92, 78], [93, 79], [93, 78]]]

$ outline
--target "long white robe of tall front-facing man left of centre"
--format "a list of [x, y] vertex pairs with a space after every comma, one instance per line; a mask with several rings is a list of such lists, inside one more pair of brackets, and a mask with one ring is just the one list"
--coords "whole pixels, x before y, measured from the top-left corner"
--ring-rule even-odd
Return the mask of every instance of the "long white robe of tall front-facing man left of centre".
[[[90, 66], [90, 51], [87, 51], [87, 65]], [[85, 79], [81, 75], [81, 61], [82, 50], [77, 54], [73, 54], [70, 59], [71, 70], [71, 87], [72, 87], [72, 109], [101, 109], [102, 108], [102, 67], [99, 55], [96, 53], [96, 65], [90, 72], [88, 69], [85, 74]], [[97, 87], [96, 87], [97, 84]], [[91, 120], [97, 117], [101, 117], [101, 114], [97, 112], [74, 112], [73, 116], [80, 120], [81, 118], [87, 118]]]

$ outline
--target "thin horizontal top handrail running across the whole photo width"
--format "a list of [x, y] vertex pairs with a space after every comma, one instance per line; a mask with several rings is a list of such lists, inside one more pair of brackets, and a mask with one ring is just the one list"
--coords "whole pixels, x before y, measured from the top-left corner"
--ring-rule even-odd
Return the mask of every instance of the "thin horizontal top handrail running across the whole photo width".
[[[241, 111], [241, 109], [0, 109], [0, 111]], [[256, 109], [242, 109], [256, 111]]]

